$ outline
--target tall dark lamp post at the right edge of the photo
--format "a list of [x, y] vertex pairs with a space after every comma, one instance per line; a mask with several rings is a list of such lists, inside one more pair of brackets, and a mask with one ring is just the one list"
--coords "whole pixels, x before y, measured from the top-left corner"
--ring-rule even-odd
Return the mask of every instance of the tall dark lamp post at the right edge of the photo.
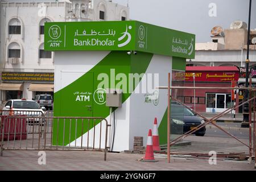
[[[245, 87], [248, 87], [248, 77], [249, 77], [249, 50], [250, 50], [250, 25], [251, 25], [251, 0], [249, 2], [249, 18], [248, 18], [248, 30], [247, 30], [247, 57], [246, 57], [246, 75], [245, 75]], [[248, 90], [245, 90], [244, 101], [248, 100]], [[249, 103], [243, 105], [243, 121], [241, 127], [249, 127]]]

